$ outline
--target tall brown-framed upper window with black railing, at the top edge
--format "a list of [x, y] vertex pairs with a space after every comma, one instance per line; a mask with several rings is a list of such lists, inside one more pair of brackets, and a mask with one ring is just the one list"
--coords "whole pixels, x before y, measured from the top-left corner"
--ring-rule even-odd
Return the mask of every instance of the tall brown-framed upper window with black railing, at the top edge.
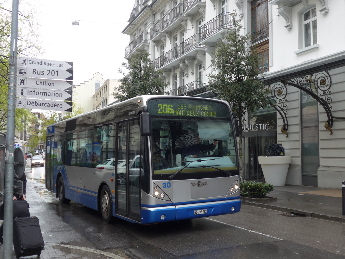
[[252, 43], [268, 38], [267, 0], [252, 1]]

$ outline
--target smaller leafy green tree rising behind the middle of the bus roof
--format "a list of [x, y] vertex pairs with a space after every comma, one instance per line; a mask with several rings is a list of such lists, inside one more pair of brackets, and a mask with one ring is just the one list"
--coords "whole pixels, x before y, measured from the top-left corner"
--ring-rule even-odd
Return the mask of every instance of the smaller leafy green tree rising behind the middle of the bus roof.
[[150, 65], [149, 54], [146, 50], [137, 51], [128, 61], [123, 62], [125, 71], [119, 69], [119, 73], [124, 77], [120, 79], [121, 85], [114, 90], [112, 95], [120, 101], [127, 100], [138, 95], [161, 95], [167, 86], [157, 75], [160, 70], [155, 70]]

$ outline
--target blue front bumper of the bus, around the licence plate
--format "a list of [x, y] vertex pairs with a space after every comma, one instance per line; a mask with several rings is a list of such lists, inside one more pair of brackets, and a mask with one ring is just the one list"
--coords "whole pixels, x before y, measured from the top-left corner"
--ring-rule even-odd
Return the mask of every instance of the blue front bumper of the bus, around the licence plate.
[[[233, 208], [233, 210], [231, 210]], [[210, 216], [217, 216], [223, 214], [230, 214], [239, 212], [241, 209], [241, 201], [236, 199], [234, 201], [219, 202], [216, 204], [194, 204], [187, 207], [175, 207], [169, 206], [167, 208], [145, 210], [141, 209], [141, 223], [150, 224], [150, 223], [160, 223], [165, 221], [174, 221], [174, 220], [185, 220], [185, 219], [195, 219], [203, 218]], [[194, 214], [196, 210], [207, 210], [207, 213], [204, 214]], [[161, 216], [164, 215], [164, 220], [161, 219]]]

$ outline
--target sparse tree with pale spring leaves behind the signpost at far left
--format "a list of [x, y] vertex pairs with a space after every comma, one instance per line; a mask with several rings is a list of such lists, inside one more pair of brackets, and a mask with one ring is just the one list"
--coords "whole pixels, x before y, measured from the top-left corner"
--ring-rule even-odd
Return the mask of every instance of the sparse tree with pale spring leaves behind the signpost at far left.
[[[8, 73], [9, 51], [11, 36], [11, 12], [12, 1], [0, 2], [0, 131], [7, 128], [7, 97], [8, 97]], [[35, 56], [39, 50], [37, 40], [38, 23], [35, 18], [36, 8], [30, 1], [20, 1], [18, 16], [18, 56]], [[31, 117], [28, 109], [17, 109], [15, 115], [16, 128], [22, 127], [25, 117]]]

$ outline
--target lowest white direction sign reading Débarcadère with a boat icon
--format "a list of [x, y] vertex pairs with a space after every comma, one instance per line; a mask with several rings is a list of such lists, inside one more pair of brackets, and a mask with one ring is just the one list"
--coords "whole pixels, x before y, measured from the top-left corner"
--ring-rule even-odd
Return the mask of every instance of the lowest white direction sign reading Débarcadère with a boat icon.
[[17, 98], [17, 108], [24, 109], [41, 109], [50, 111], [72, 111], [72, 102], [54, 101], [54, 100], [39, 100], [31, 98]]

